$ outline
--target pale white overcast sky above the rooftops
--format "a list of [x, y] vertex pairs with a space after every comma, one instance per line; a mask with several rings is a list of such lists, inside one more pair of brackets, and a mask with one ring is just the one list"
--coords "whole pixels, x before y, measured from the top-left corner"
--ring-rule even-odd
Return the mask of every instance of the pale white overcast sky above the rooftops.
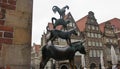
[[59, 18], [58, 13], [53, 13], [52, 7], [62, 8], [68, 5], [75, 21], [81, 19], [93, 11], [98, 23], [105, 22], [112, 18], [120, 19], [120, 0], [33, 0], [33, 24], [32, 44], [41, 44], [41, 36], [46, 32], [48, 22], [51, 18]]

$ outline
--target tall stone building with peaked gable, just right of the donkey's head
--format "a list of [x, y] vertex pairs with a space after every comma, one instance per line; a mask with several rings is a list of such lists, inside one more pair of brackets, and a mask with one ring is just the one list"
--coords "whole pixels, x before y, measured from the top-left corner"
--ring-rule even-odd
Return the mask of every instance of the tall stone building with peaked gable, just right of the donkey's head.
[[104, 46], [102, 43], [102, 33], [94, 13], [90, 11], [88, 15], [78, 20], [76, 24], [81, 32], [81, 37], [86, 39], [86, 67], [90, 69], [98, 69], [100, 67], [100, 54], [104, 54]]

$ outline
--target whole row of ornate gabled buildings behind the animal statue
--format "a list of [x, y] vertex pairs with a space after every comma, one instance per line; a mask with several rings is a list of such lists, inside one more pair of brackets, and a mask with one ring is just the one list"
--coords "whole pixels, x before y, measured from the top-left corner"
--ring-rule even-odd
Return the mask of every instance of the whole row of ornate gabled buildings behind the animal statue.
[[[74, 18], [72, 17], [71, 13], [68, 13], [65, 17], [65, 20], [70, 20], [70, 23], [67, 25], [67, 27], [70, 29], [76, 29], [78, 32], [78, 36], [72, 36], [71, 41], [75, 42], [81, 39], [85, 39], [85, 48], [87, 51], [87, 54], [85, 55], [85, 67], [87, 69], [100, 69], [101, 68], [101, 63], [100, 63], [100, 55], [101, 53], [104, 55], [103, 60], [104, 60], [104, 66], [107, 68], [108, 64], [111, 62], [110, 58], [110, 45], [113, 45], [115, 47], [116, 53], [119, 58], [119, 53], [120, 53], [120, 47], [118, 45], [118, 40], [117, 35], [119, 35], [118, 32], [115, 32], [115, 28], [120, 28], [120, 27], [114, 27], [110, 23], [102, 23], [104, 25], [98, 24], [94, 13], [92, 11], [88, 12], [88, 15], [84, 16], [83, 18], [79, 19], [78, 21], [75, 22]], [[117, 22], [120, 20], [118, 19]], [[102, 26], [102, 27], [101, 27]], [[48, 27], [50, 30], [53, 29], [52, 23], [48, 23]], [[58, 30], [63, 30], [64, 29], [61, 26], [58, 26], [56, 29]], [[67, 30], [67, 31], [69, 31]], [[103, 32], [104, 30], [104, 32]], [[112, 32], [111, 34], [108, 32]], [[117, 33], [117, 35], [116, 35]], [[47, 31], [46, 34], [44, 34], [41, 40], [42, 43], [45, 44], [46, 37], [48, 36], [49, 32]], [[106, 40], [109, 39], [109, 42], [106, 42]], [[55, 41], [56, 45], [63, 45], [66, 46], [66, 41], [62, 40], [60, 38], [56, 39]], [[120, 61], [120, 60], [118, 60]], [[75, 56], [75, 65], [77, 68], [81, 67], [81, 54], [76, 53]], [[69, 69], [69, 62], [66, 61], [55, 61], [53, 60], [53, 65], [56, 69]]]

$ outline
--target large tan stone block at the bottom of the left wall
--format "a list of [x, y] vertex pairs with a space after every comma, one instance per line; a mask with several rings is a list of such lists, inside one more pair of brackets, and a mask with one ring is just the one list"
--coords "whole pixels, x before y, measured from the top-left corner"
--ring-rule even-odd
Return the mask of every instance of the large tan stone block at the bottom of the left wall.
[[3, 44], [3, 65], [11, 69], [30, 69], [29, 45]]

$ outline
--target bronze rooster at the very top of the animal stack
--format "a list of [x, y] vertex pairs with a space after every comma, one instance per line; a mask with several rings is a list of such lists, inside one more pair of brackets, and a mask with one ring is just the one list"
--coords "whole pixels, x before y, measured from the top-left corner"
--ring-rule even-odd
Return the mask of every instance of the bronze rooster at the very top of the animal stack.
[[58, 12], [59, 15], [60, 15], [60, 18], [64, 18], [66, 8], [69, 9], [69, 6], [66, 5], [62, 9], [60, 9], [58, 6], [53, 6], [52, 10], [53, 10], [54, 13]]

